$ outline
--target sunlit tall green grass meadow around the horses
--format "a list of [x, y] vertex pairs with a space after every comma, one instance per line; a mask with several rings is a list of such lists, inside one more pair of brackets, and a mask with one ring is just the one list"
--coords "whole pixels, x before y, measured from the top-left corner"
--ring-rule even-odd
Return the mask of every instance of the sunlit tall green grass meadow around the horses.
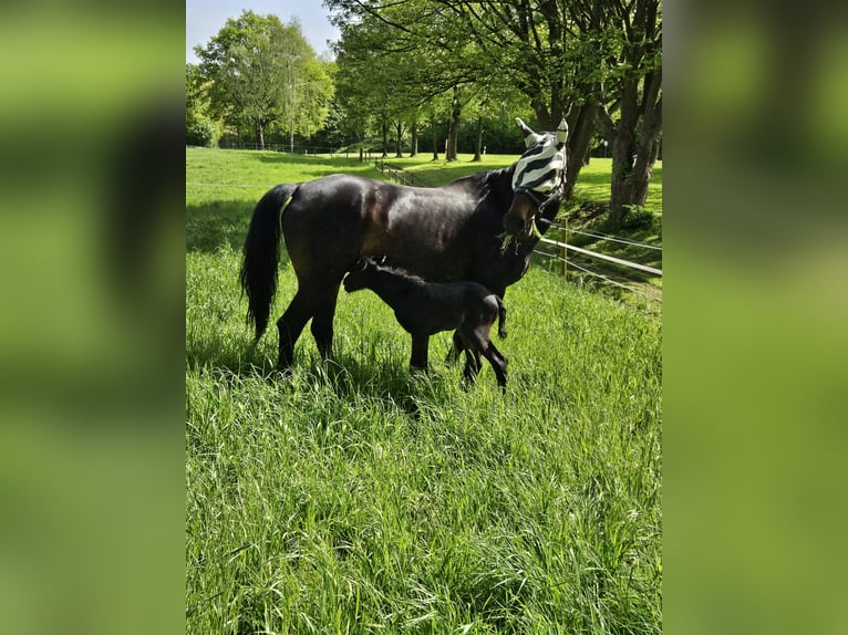
[[[186, 632], [660, 633], [659, 319], [534, 263], [501, 394], [442, 363], [448, 333], [411, 375], [391, 310], [342, 292], [333, 358], [304, 331], [280, 376], [240, 247], [269, 187], [331, 171], [379, 176], [186, 150]], [[272, 315], [294, 289], [283, 256]]]

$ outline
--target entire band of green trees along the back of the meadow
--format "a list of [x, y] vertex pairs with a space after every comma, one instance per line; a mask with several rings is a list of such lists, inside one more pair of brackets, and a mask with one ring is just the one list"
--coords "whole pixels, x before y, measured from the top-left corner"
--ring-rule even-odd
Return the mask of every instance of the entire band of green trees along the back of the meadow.
[[[196, 51], [205, 111], [249, 126], [365, 140], [393, 132], [412, 152], [423, 123], [434, 157], [461, 118], [514, 112], [537, 129], [569, 125], [567, 196], [599, 135], [611, 146], [612, 225], [644, 204], [662, 137], [661, 0], [324, 0], [341, 38], [318, 60], [297, 22], [245, 11]], [[332, 71], [331, 71], [332, 69]], [[331, 106], [331, 96], [335, 98]], [[199, 115], [198, 115], [199, 116]], [[535, 119], [535, 121], [534, 121]], [[201, 128], [199, 123], [196, 128]], [[446, 133], [446, 135], [445, 135]]]

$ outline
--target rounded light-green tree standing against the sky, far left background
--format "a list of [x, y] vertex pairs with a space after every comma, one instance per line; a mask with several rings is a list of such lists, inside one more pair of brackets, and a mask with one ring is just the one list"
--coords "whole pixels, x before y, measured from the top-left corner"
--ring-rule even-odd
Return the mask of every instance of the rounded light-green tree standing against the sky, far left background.
[[294, 133], [314, 132], [327, 117], [332, 82], [297, 22], [244, 11], [195, 51], [213, 111], [249, 126], [260, 149], [271, 124], [288, 128], [293, 142]]

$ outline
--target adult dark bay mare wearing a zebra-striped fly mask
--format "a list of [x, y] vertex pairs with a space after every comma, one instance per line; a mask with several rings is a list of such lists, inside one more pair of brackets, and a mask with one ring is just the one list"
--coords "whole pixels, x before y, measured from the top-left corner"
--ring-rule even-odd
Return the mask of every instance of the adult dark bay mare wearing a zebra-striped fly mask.
[[258, 341], [268, 325], [285, 238], [298, 291], [277, 321], [280, 368], [291, 364], [310, 320], [320, 353], [331, 353], [339, 287], [363, 256], [385, 256], [386, 264], [431, 282], [473, 280], [500, 298], [521, 279], [559, 210], [567, 126], [563, 119], [556, 134], [536, 134], [516, 121], [527, 150], [515, 164], [443, 187], [341, 174], [266, 192], [250, 221], [240, 278]]

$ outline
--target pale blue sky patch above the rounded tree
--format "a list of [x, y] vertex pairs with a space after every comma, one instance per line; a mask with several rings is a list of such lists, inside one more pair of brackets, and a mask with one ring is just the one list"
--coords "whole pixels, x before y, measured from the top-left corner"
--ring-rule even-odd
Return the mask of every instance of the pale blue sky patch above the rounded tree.
[[245, 9], [260, 15], [273, 13], [283, 22], [297, 18], [303, 35], [319, 55], [330, 53], [327, 40], [339, 37], [321, 0], [186, 0], [186, 62], [196, 64], [194, 48], [205, 46], [227, 18], [238, 18]]

